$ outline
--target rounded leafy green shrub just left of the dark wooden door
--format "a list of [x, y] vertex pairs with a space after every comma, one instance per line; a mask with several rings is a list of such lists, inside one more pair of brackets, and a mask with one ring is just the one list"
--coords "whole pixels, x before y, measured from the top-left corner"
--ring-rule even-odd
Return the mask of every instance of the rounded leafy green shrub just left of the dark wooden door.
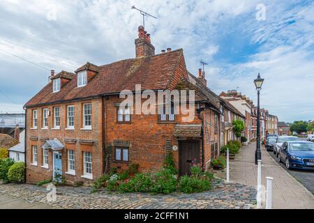
[[170, 169], [163, 169], [153, 176], [154, 184], [151, 192], [160, 194], [170, 194], [177, 190], [177, 178]]

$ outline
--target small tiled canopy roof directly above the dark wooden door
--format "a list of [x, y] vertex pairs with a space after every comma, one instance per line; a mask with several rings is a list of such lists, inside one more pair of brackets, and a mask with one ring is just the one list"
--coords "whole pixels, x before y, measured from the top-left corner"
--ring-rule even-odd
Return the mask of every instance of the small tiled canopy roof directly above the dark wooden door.
[[202, 136], [202, 125], [180, 125], [174, 126], [173, 131], [174, 137], [201, 137]]

